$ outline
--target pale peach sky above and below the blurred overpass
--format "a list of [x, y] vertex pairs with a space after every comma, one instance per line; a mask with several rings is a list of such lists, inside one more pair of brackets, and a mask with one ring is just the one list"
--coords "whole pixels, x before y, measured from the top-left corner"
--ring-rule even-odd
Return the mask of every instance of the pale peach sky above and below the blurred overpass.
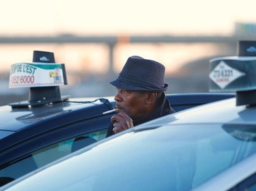
[[[236, 22], [256, 23], [255, 0], [0, 0], [0, 36], [233, 35]], [[0, 44], [0, 70], [28, 62], [33, 50], [55, 52], [68, 69], [107, 71], [107, 48]], [[212, 51], [210, 45], [119, 46], [115, 65], [132, 55], [178, 68]], [[171, 54], [170, 54], [171, 52]], [[215, 54], [216, 52], [212, 52]], [[185, 56], [187, 56], [185, 58]], [[75, 67], [74, 67], [75, 66]], [[117, 66], [117, 71], [122, 65]], [[104, 69], [104, 70], [102, 70]]]

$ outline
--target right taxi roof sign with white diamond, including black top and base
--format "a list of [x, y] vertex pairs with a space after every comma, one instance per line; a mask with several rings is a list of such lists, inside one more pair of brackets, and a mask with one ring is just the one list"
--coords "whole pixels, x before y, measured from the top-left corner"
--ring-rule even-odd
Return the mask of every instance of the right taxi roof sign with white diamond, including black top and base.
[[256, 41], [239, 41], [238, 56], [210, 60], [210, 92], [236, 92], [236, 105], [256, 104]]

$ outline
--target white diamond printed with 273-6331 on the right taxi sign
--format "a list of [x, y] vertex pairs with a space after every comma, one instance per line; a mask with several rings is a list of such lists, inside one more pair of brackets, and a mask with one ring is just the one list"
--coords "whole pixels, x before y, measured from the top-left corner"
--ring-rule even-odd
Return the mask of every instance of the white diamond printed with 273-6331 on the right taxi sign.
[[245, 73], [229, 67], [223, 60], [212, 70], [209, 77], [221, 89], [225, 88], [238, 77], [245, 75]]

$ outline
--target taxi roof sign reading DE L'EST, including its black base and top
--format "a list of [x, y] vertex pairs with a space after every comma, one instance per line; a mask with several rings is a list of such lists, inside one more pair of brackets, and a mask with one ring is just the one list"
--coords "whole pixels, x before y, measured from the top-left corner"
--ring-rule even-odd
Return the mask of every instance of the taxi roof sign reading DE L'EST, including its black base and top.
[[53, 52], [33, 51], [33, 63], [16, 63], [10, 70], [10, 88], [29, 87], [29, 100], [10, 103], [12, 107], [44, 105], [68, 99], [59, 86], [66, 85], [64, 64], [55, 63]]

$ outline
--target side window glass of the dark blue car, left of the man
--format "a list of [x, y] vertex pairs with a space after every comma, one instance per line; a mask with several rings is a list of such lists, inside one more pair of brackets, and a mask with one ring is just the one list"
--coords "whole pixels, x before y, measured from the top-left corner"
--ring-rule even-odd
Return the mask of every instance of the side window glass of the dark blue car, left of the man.
[[[106, 137], [107, 129], [86, 133], [85, 135], [66, 139], [53, 145], [48, 145], [40, 150], [32, 152], [31, 154], [19, 158], [0, 169], [0, 180], [3, 177], [10, 177], [16, 179], [30, 171], [38, 169], [49, 162], [53, 162], [67, 154], [70, 154], [81, 147], [85, 147], [91, 143], [104, 139]], [[89, 141], [88, 141], [89, 140]], [[75, 146], [75, 147], [74, 147]]]

